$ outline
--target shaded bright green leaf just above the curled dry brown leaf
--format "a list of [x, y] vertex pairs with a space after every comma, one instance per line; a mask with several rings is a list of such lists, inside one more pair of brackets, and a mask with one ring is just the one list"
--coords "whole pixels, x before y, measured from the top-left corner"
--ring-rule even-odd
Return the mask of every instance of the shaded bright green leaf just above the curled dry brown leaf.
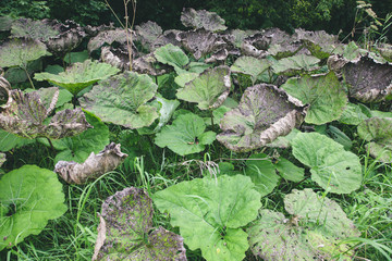
[[[94, 127], [81, 135], [52, 140], [53, 147], [60, 152], [54, 158], [54, 163], [59, 161], [74, 161], [83, 163], [88, 156], [98, 153], [109, 144], [109, 127], [105, 125], [96, 115], [84, 111], [86, 121]], [[39, 139], [40, 142], [49, 146], [46, 139]]]

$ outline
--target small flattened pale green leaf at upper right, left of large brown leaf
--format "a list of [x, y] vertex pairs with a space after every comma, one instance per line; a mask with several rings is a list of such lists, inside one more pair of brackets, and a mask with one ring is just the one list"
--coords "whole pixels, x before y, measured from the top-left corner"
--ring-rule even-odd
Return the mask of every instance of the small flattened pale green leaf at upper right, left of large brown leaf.
[[320, 60], [318, 58], [298, 54], [279, 60], [272, 64], [272, 70], [275, 74], [293, 76], [302, 72], [311, 72], [320, 69], [318, 65], [319, 62]]

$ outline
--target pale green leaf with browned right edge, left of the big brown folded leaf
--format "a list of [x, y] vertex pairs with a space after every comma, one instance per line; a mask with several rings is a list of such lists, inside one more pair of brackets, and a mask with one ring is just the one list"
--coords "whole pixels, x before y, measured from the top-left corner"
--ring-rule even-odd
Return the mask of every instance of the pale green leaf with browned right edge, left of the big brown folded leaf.
[[230, 69], [218, 66], [206, 70], [176, 92], [181, 100], [197, 102], [200, 110], [220, 107], [228, 98], [231, 87]]

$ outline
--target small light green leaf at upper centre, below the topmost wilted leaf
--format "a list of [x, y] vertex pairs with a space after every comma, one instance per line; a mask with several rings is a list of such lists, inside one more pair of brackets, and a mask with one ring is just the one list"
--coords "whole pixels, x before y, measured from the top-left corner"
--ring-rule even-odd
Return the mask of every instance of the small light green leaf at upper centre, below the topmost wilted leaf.
[[179, 72], [189, 63], [189, 59], [183, 50], [172, 44], [158, 48], [155, 50], [154, 55], [159, 62], [173, 66], [177, 74], [180, 74]]

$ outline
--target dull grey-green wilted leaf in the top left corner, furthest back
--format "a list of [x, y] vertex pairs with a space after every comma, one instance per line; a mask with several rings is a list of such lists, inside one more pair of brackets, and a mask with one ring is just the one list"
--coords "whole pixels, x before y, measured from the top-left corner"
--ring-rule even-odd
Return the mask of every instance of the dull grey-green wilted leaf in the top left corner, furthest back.
[[47, 41], [59, 34], [47, 20], [34, 21], [19, 18], [12, 23], [11, 36], [16, 38], [30, 38], [33, 40]]

